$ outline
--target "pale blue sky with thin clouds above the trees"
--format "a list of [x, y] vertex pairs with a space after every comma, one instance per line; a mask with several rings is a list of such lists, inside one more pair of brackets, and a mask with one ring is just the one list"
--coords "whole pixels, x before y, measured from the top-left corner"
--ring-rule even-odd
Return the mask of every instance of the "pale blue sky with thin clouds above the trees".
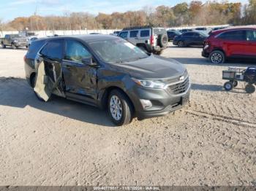
[[[189, 3], [191, 0], [184, 0]], [[174, 6], [184, 2], [182, 0], [1, 0], [0, 18], [4, 21], [15, 17], [27, 17], [33, 15], [37, 9], [37, 15], [64, 15], [64, 12], [90, 12], [97, 15], [98, 12], [112, 13], [125, 12], [127, 10], [139, 10], [148, 5]], [[221, 1], [221, 0], [220, 0]], [[230, 0], [246, 4], [248, 0]]]

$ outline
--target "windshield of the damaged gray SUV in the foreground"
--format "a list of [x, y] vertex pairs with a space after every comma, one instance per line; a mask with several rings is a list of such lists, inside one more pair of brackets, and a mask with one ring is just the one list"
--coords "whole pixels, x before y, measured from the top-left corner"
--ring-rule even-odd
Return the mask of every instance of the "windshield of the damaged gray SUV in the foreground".
[[89, 43], [94, 52], [108, 63], [122, 63], [147, 58], [146, 52], [124, 39], [111, 39]]

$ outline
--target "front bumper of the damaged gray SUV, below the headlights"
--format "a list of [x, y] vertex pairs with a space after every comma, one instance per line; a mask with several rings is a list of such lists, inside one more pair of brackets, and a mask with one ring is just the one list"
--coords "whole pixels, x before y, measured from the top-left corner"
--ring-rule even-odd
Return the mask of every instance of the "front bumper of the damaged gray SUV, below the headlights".
[[[133, 90], [132, 102], [135, 105], [136, 117], [143, 120], [151, 117], [159, 117], [185, 106], [189, 102], [191, 84], [184, 93], [173, 95], [167, 90], [154, 90], [144, 87], [136, 87]], [[143, 109], [140, 99], [149, 100], [152, 103], [150, 109]]]

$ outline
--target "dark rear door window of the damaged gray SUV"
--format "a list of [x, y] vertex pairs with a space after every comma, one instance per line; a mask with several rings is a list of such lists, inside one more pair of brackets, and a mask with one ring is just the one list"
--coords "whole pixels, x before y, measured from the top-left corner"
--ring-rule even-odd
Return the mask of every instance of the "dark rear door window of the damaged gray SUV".
[[40, 53], [48, 58], [60, 60], [63, 55], [63, 40], [51, 40], [43, 47]]

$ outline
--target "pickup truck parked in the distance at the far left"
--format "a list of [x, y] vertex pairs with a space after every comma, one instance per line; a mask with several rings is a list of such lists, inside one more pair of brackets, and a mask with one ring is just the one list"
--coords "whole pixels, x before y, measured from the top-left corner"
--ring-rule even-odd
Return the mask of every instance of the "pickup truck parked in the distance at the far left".
[[28, 39], [18, 34], [6, 34], [3, 39], [0, 39], [1, 47], [6, 48], [7, 46], [16, 49], [18, 47], [28, 47]]

